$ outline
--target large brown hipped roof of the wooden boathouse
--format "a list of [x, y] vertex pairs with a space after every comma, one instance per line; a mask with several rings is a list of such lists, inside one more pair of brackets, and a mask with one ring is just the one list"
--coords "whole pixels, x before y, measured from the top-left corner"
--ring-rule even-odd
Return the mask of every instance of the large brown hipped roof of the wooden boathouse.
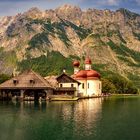
[[2, 83], [0, 89], [48, 89], [52, 88], [50, 83], [32, 70]]

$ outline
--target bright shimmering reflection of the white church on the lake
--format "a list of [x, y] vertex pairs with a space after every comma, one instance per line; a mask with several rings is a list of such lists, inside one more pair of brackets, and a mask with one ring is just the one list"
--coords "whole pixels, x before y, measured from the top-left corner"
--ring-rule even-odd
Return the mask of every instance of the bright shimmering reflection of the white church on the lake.
[[[96, 133], [96, 123], [101, 119], [102, 99], [82, 100], [77, 104], [74, 120], [75, 133], [90, 135]], [[80, 130], [80, 131], [79, 131]], [[83, 133], [81, 133], [83, 132]]]

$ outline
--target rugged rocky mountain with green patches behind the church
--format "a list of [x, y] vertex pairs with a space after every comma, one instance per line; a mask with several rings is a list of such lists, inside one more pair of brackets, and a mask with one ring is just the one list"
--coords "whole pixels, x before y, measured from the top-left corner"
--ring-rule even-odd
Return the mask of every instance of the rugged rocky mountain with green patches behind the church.
[[[0, 72], [32, 68], [43, 76], [72, 73], [89, 55], [102, 76], [119, 74], [140, 86], [140, 15], [127, 9], [63, 5], [0, 18]], [[81, 65], [82, 67], [82, 65]]]

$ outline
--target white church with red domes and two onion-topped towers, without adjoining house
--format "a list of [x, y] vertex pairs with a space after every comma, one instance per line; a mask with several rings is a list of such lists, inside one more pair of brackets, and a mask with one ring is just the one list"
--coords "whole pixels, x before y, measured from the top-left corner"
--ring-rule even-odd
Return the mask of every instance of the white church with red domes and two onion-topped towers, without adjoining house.
[[78, 86], [78, 96], [100, 96], [102, 94], [102, 82], [100, 74], [92, 70], [92, 61], [89, 57], [85, 59], [85, 69], [80, 70], [80, 62], [75, 60], [73, 62], [74, 74], [72, 78], [80, 82]]

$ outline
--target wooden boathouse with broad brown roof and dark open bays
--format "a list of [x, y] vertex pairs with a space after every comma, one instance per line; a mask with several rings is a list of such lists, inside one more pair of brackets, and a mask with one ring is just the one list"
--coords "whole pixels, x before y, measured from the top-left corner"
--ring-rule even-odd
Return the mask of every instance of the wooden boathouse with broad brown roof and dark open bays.
[[32, 70], [27, 70], [0, 85], [1, 100], [38, 100], [40, 97], [45, 100], [52, 93], [50, 83]]

